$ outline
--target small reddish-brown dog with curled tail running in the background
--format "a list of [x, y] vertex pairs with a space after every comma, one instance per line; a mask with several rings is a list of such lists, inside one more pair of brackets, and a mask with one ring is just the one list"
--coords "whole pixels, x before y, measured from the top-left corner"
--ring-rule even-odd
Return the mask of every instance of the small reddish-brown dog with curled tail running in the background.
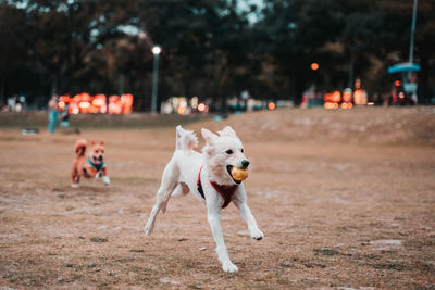
[[71, 187], [78, 187], [80, 176], [86, 178], [102, 177], [104, 185], [110, 185], [108, 169], [104, 164], [104, 141], [96, 143], [90, 141], [90, 151], [86, 156], [87, 141], [84, 139], [75, 143], [76, 157], [71, 171]]

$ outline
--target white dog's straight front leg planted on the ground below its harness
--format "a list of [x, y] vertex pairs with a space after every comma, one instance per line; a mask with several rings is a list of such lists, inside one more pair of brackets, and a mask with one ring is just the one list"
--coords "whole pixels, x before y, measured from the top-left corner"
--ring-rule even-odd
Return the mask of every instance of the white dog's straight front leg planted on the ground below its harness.
[[214, 241], [216, 242], [216, 254], [217, 259], [221, 262], [222, 269], [224, 272], [237, 272], [238, 268], [234, 265], [228, 255], [228, 251], [226, 250], [226, 245], [224, 242], [224, 237], [222, 235], [221, 228], [221, 209], [220, 202], [216, 198], [207, 200], [207, 220], [209, 222], [211, 232], [213, 234]]

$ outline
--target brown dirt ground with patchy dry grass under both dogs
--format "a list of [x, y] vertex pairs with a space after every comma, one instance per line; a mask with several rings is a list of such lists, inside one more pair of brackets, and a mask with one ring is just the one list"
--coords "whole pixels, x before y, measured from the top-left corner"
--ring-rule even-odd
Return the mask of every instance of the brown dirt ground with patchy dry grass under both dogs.
[[[278, 110], [232, 125], [265, 237], [223, 211], [222, 272], [206, 207], [170, 201], [144, 226], [175, 128], [22, 136], [0, 129], [0, 289], [435, 289], [435, 109]], [[74, 142], [104, 139], [112, 185], [69, 186]], [[200, 146], [202, 146], [202, 141]]]

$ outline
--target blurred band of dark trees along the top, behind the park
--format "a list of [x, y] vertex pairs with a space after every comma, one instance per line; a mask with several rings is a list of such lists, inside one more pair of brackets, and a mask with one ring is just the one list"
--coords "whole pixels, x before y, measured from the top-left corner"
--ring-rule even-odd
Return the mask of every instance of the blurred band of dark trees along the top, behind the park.
[[[434, 96], [433, 11], [434, 0], [419, 1], [420, 103]], [[386, 68], [408, 60], [411, 17], [412, 0], [0, 0], [0, 100], [132, 92], [149, 110], [156, 43], [160, 101], [222, 103], [248, 90], [299, 103], [313, 85], [344, 89], [356, 77], [384, 93]]]

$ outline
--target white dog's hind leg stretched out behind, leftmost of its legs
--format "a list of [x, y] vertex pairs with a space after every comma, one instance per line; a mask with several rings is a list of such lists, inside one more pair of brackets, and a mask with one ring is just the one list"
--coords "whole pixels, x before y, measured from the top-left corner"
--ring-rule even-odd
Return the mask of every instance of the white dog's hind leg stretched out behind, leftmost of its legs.
[[164, 168], [162, 182], [159, 190], [157, 191], [156, 204], [152, 207], [147, 225], [145, 226], [145, 234], [147, 236], [151, 235], [152, 229], [154, 228], [157, 214], [160, 212], [160, 210], [163, 210], [163, 213], [166, 210], [171, 193], [178, 186], [178, 168], [175, 166], [173, 161], [170, 161], [170, 163]]

